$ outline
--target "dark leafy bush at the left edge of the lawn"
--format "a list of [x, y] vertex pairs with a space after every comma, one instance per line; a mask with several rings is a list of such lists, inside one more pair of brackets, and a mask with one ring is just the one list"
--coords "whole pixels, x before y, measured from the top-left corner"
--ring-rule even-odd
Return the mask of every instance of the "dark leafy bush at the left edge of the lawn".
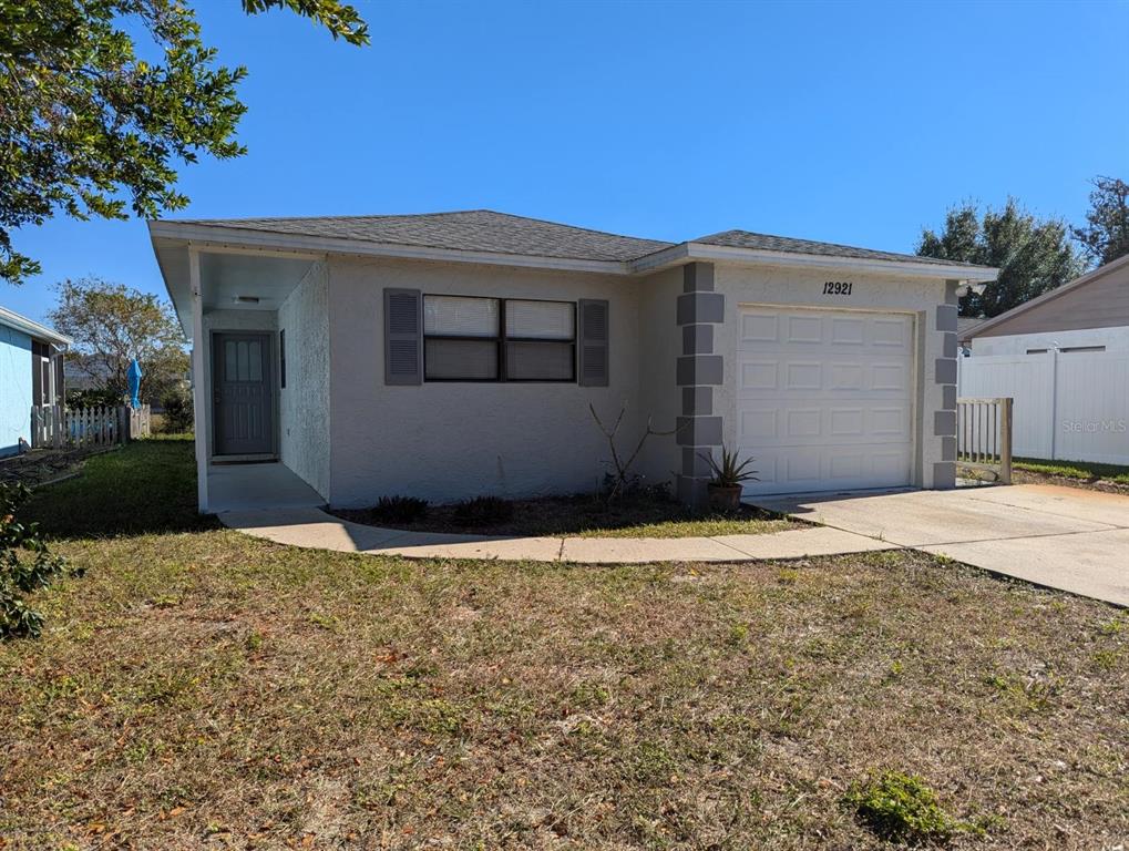
[[29, 495], [24, 484], [0, 484], [0, 638], [40, 634], [43, 615], [28, 607], [24, 595], [46, 587], [65, 568], [47, 550], [37, 524], [16, 519]]

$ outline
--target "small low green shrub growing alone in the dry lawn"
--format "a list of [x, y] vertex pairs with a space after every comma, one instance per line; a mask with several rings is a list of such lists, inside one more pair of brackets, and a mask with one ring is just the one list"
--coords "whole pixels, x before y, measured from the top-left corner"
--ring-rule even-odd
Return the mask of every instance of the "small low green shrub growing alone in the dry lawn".
[[847, 792], [847, 804], [877, 836], [890, 842], [946, 842], [970, 825], [942, 809], [936, 792], [914, 774], [886, 771]]

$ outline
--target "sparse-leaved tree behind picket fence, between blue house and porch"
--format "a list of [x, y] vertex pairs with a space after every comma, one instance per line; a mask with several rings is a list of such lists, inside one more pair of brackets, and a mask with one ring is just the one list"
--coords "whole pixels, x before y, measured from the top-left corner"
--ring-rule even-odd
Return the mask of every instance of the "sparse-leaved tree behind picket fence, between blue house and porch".
[[172, 305], [121, 283], [86, 278], [58, 284], [51, 323], [75, 340], [68, 359], [94, 387], [122, 398], [126, 372], [141, 365], [141, 401], [152, 402], [189, 371], [184, 335]]

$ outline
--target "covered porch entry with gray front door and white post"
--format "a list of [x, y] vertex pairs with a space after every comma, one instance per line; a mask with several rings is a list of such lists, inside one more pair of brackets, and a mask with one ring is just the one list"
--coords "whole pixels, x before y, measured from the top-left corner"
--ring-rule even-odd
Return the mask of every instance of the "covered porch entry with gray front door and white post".
[[324, 255], [185, 238], [184, 222], [166, 237], [163, 225], [150, 223], [157, 258], [192, 343], [201, 512], [324, 506], [327, 300], [309, 298], [327, 288]]

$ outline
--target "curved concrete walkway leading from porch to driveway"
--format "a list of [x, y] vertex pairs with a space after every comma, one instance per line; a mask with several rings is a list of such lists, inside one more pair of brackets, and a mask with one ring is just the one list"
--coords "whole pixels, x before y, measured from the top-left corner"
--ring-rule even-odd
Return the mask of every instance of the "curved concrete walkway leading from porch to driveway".
[[841, 529], [812, 527], [767, 535], [680, 538], [505, 537], [385, 529], [350, 523], [318, 508], [225, 511], [226, 526], [291, 546], [418, 559], [502, 559], [589, 564], [664, 561], [759, 561], [894, 550], [896, 545]]

